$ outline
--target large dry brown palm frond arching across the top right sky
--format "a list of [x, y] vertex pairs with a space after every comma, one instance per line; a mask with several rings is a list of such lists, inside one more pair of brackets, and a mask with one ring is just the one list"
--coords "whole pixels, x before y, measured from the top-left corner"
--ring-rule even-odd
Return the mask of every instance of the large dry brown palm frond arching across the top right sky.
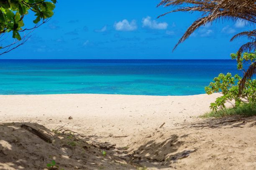
[[[192, 23], [182, 38], [179, 39], [178, 43], [174, 46], [174, 49], [205, 23], [212, 23], [220, 20], [232, 20], [234, 22], [237, 20], [246, 20], [250, 25], [256, 23], [255, 0], [161, 0], [157, 7], [161, 5], [164, 7], [180, 6], [168, 13], [178, 11], [193, 13], [197, 11], [202, 14], [199, 19]], [[168, 13], [164, 13], [159, 17]], [[237, 35], [236, 37], [238, 36], [242, 36], [242, 34]], [[231, 40], [236, 37], [234, 36]], [[246, 45], [244, 47], [246, 47]]]

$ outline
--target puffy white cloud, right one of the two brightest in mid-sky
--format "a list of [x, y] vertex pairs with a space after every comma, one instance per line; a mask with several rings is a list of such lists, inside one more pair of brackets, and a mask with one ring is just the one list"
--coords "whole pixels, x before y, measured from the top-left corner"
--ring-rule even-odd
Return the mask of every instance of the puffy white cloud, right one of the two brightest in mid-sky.
[[156, 20], [151, 20], [151, 17], [149, 17], [149, 16], [142, 19], [142, 27], [143, 28], [165, 30], [167, 28], [167, 26], [168, 26], [168, 24], [166, 22], [158, 23]]

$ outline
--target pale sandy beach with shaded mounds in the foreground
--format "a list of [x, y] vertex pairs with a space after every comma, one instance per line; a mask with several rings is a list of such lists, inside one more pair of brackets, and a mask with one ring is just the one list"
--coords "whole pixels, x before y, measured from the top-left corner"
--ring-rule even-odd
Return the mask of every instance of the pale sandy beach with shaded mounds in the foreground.
[[255, 117], [197, 117], [218, 96], [0, 95], [0, 169], [256, 169]]

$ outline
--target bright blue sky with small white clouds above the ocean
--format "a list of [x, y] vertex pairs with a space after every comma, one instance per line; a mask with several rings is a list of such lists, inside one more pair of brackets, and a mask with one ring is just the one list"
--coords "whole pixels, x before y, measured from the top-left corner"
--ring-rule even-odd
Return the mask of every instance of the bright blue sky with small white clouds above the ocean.
[[[160, 0], [59, 0], [52, 19], [2, 59], [230, 59], [246, 39], [230, 42], [242, 22], [213, 23], [172, 49], [200, 13], [170, 13]], [[33, 13], [24, 19], [33, 27]], [[8, 35], [5, 42], [10, 41]], [[13, 40], [11, 40], [13, 41]]]

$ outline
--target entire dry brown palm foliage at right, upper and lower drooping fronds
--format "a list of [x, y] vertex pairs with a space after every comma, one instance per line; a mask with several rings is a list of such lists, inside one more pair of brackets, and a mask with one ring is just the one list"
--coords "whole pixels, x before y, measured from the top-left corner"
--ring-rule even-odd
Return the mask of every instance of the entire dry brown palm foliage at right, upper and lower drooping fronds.
[[[201, 16], [192, 25], [189, 26], [187, 31], [182, 35], [177, 44], [174, 46], [173, 50], [177, 46], [184, 42], [195, 30], [200, 28], [202, 25], [208, 23], [212, 24], [214, 21], [220, 20], [231, 20], [233, 22], [239, 20], [245, 20], [249, 25], [255, 25], [256, 23], [256, 0], [161, 0], [157, 5], [164, 7], [177, 7], [176, 9], [168, 12], [200, 12]], [[164, 13], [164, 16], [168, 13]], [[158, 17], [158, 18], [159, 18]], [[250, 52], [256, 49], [256, 30], [244, 31], [233, 36], [230, 41], [238, 37], [247, 37], [249, 42], [242, 45], [238, 50], [238, 60], [243, 52]], [[241, 94], [241, 89], [243, 89], [246, 80], [251, 78], [256, 73], [255, 62], [248, 68], [244, 74], [240, 85], [239, 93]]]

